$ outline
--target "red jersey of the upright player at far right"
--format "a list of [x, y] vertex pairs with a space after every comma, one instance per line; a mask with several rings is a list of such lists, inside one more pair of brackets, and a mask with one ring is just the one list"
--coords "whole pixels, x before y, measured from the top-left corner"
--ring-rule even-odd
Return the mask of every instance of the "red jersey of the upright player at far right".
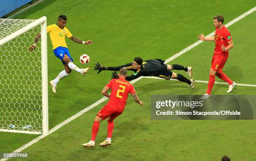
[[228, 51], [223, 52], [221, 50], [221, 45], [224, 45], [225, 47], [227, 47], [228, 42], [232, 40], [228, 29], [225, 26], [223, 26], [220, 30], [218, 27], [216, 27], [214, 37], [215, 37], [214, 54], [228, 54]]

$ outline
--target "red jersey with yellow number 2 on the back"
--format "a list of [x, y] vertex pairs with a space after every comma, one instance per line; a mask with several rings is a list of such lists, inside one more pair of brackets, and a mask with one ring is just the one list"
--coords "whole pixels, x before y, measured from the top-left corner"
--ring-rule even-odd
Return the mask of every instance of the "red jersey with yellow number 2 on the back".
[[112, 79], [106, 86], [111, 88], [110, 101], [106, 104], [106, 106], [115, 108], [118, 111], [123, 111], [128, 94], [135, 93], [133, 85], [127, 82], [125, 79], [120, 78]]

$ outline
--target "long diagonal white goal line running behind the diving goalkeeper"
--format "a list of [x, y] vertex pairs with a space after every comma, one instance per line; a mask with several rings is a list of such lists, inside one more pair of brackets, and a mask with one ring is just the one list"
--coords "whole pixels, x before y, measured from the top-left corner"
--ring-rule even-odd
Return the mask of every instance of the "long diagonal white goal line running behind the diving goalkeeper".
[[[253, 11], [256, 10], [256, 7], [253, 7], [251, 10], [245, 12], [243, 15], [238, 16], [237, 18], [235, 18], [234, 20], [230, 21], [229, 23], [227, 23], [225, 26], [228, 27], [230, 25], [232, 25], [233, 23], [237, 22], [238, 20], [241, 20], [243, 17], [249, 15], [250, 13], [252, 13]], [[227, 26], [228, 25], [228, 26]], [[214, 32], [210, 33], [207, 36], [213, 35]], [[180, 51], [179, 53], [173, 55], [172, 57], [170, 57], [169, 59], [165, 60], [165, 63], [170, 62], [171, 60], [179, 57], [180, 55], [184, 54], [185, 52], [187, 52], [188, 50], [192, 49], [193, 47], [199, 45], [200, 43], [202, 43], [201, 40], [195, 42], [194, 44], [190, 45], [189, 47], [185, 48], [184, 50]], [[137, 82], [138, 80], [142, 79], [143, 77], [139, 77], [137, 79], [134, 79], [131, 81], [131, 84]], [[78, 116], [81, 116], [82, 114], [84, 114], [84, 112], [89, 111], [90, 109], [94, 108], [95, 106], [99, 105], [100, 103], [104, 102], [106, 99], [106, 97], [103, 97], [102, 99], [98, 100], [97, 102], [95, 102], [94, 104], [90, 105], [89, 107], [86, 107], [85, 109], [83, 109], [82, 111], [78, 112], [77, 114], [71, 116], [69, 119], [61, 122], [60, 124], [58, 124], [57, 126], [55, 126], [53, 129], [49, 130], [49, 134], [53, 133], [54, 131], [56, 131], [57, 129], [61, 128], [62, 126], [64, 126], [65, 124], [69, 123], [70, 121], [72, 121], [73, 119], [76, 119]], [[26, 149], [28, 146], [31, 146], [32, 144], [36, 143], [37, 141], [43, 139], [45, 136], [41, 135], [38, 136], [36, 139], [33, 139], [32, 141], [30, 141], [28, 144], [25, 144], [23, 146], [21, 146], [19, 149], [13, 151], [13, 153], [19, 153], [20, 151], [23, 151], [24, 149]], [[5, 161], [7, 159], [1, 159], [0, 161]]]

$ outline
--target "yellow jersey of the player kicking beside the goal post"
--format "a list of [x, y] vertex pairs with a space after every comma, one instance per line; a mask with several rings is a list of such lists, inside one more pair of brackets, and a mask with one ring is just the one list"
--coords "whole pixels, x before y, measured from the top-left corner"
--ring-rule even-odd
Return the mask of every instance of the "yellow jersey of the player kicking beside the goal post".
[[57, 47], [67, 47], [65, 36], [72, 37], [72, 33], [69, 32], [67, 27], [61, 29], [58, 25], [53, 24], [47, 26], [47, 33], [49, 32], [52, 49], [56, 49]]

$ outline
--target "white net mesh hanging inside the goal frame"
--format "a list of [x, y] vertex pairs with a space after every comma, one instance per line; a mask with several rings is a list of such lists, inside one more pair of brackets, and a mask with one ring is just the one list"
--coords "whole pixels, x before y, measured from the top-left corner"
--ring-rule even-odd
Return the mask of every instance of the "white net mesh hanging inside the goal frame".
[[[0, 19], [0, 39], [35, 20]], [[40, 25], [0, 46], [0, 129], [42, 131]]]

